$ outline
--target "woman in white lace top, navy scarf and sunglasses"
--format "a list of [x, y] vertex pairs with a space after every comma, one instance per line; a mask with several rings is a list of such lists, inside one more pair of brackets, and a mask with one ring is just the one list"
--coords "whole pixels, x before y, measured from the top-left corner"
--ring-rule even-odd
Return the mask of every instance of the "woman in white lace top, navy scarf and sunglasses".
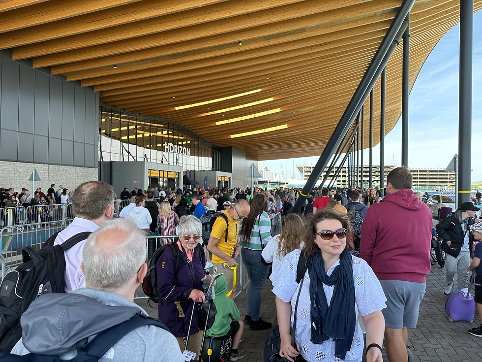
[[[301, 354], [301, 361], [360, 362], [363, 334], [359, 314], [366, 329], [366, 361], [382, 361], [385, 320], [381, 310], [387, 299], [370, 266], [349, 253], [352, 234], [346, 216], [323, 209], [304, 228], [305, 246], [286, 255], [271, 274], [280, 355], [289, 361]], [[300, 287], [296, 273], [301, 253], [309, 267], [298, 299], [296, 347], [292, 347], [290, 328]]]

